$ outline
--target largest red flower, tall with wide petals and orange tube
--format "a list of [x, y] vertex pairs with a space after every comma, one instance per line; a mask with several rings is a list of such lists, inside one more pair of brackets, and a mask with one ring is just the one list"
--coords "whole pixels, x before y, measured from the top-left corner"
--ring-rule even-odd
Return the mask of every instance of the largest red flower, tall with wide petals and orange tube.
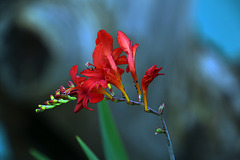
[[127, 64], [127, 59], [125, 56], [119, 57], [122, 49], [116, 48], [113, 50], [112, 43], [111, 35], [104, 30], [100, 30], [96, 39], [97, 46], [92, 55], [93, 64], [88, 63], [89, 66], [94, 68], [86, 69], [81, 74], [90, 77], [94, 81], [94, 86], [107, 88], [108, 83], [113, 84], [124, 94], [127, 102], [129, 102], [121, 81], [121, 74], [124, 70], [117, 67], [117, 65]]

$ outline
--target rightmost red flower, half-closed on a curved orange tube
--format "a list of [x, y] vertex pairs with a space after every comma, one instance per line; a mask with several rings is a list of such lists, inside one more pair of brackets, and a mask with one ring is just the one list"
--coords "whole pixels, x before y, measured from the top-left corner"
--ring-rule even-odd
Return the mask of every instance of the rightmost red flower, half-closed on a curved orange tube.
[[142, 78], [142, 90], [143, 90], [143, 100], [144, 100], [144, 110], [148, 111], [148, 105], [147, 105], [147, 89], [148, 85], [159, 75], [164, 75], [164, 73], [158, 73], [162, 67], [157, 68], [156, 65], [153, 65], [151, 68], [149, 68], [145, 75]]

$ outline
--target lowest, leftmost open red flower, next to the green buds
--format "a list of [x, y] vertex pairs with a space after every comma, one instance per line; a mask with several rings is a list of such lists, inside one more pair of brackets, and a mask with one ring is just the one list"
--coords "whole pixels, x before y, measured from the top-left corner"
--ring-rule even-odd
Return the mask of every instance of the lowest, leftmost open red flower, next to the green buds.
[[[110, 96], [105, 90], [101, 87], [91, 87], [94, 83], [91, 79], [86, 79], [85, 77], [79, 77], [77, 74], [78, 66], [75, 65], [71, 68], [70, 75], [73, 82], [77, 85], [76, 87], [71, 87], [66, 90], [66, 93], [76, 93], [78, 95], [78, 102], [74, 109], [74, 112], [77, 113], [82, 108], [93, 111], [93, 109], [87, 106], [87, 103], [98, 103], [103, 100], [104, 94]], [[111, 96], [110, 96], [111, 97]]]

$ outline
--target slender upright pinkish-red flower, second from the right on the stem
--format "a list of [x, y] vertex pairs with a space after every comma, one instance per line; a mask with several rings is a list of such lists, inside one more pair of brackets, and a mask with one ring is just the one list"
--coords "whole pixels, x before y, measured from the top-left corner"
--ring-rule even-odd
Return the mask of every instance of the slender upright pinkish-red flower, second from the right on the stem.
[[131, 72], [131, 75], [133, 77], [134, 83], [138, 91], [139, 101], [141, 101], [141, 90], [137, 81], [137, 74], [135, 69], [135, 54], [136, 54], [138, 44], [132, 45], [132, 42], [130, 41], [130, 39], [121, 31], [118, 31], [117, 39], [118, 39], [118, 44], [120, 48], [127, 54], [128, 66], [126, 71]]

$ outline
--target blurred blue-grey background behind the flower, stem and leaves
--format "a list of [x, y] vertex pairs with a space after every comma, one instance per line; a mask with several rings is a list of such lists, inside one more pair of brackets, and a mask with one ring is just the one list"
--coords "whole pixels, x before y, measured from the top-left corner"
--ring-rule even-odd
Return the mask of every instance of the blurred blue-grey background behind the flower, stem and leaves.
[[[92, 62], [97, 32], [117, 31], [139, 43], [149, 106], [165, 103], [176, 159], [240, 159], [240, 2], [237, 0], [0, 1], [0, 159], [86, 159], [80, 136], [104, 159], [97, 105], [74, 114], [76, 102], [40, 114], [38, 104], [70, 80], [70, 68]], [[125, 67], [124, 67], [125, 68]], [[137, 93], [123, 76], [130, 99]], [[169, 159], [158, 117], [139, 106], [109, 103], [130, 159]], [[124, 117], [124, 118], [123, 118]]]

